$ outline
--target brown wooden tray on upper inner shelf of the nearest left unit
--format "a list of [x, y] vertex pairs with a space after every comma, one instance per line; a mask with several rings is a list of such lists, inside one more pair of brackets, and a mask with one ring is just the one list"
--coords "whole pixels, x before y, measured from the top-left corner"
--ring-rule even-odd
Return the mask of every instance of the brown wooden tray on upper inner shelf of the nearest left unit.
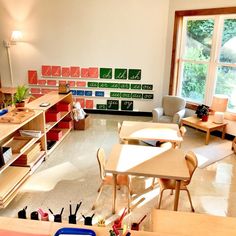
[[10, 147], [12, 153], [21, 153], [31, 145], [32, 141], [34, 141], [32, 137], [14, 136], [4, 143], [3, 147]]

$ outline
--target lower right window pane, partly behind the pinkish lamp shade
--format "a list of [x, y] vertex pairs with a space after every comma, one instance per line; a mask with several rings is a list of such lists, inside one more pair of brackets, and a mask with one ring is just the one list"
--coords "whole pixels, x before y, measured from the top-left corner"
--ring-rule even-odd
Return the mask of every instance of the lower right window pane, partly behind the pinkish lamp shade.
[[218, 68], [215, 94], [227, 95], [228, 109], [236, 112], [236, 68], [227, 66]]

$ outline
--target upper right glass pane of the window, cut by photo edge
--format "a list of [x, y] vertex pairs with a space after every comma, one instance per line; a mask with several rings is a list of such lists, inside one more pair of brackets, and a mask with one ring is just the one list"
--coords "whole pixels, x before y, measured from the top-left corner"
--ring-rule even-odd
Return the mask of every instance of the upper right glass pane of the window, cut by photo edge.
[[236, 19], [224, 21], [220, 62], [236, 63]]

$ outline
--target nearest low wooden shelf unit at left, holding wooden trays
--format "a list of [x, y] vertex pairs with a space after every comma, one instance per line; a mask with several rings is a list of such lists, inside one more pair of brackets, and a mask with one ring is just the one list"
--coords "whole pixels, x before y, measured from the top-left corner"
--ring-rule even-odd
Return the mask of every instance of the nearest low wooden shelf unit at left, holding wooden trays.
[[[40, 131], [39, 137], [21, 139], [20, 130]], [[0, 208], [6, 207], [17, 194], [17, 190], [27, 177], [39, 166], [46, 155], [46, 136], [43, 111], [36, 110], [34, 115], [20, 124], [0, 123], [0, 146], [12, 147], [12, 155], [0, 168]], [[34, 145], [40, 150], [31, 160], [15, 166], [14, 163], [25, 155]]]

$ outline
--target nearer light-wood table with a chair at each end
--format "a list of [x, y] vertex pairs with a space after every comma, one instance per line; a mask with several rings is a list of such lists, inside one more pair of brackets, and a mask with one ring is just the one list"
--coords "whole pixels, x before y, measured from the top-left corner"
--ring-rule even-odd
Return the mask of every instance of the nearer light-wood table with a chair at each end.
[[113, 206], [115, 213], [117, 174], [157, 177], [176, 180], [174, 210], [178, 209], [181, 180], [189, 180], [185, 153], [180, 149], [115, 144], [105, 166], [113, 174]]

